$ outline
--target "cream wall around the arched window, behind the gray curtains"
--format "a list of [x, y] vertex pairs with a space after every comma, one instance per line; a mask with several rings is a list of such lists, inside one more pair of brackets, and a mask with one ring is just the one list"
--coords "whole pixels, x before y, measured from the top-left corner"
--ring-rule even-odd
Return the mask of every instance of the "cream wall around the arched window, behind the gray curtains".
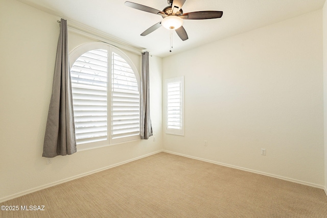
[[[60, 17], [12, 0], [0, 1], [0, 202], [100, 171], [162, 149], [161, 58], [150, 57], [153, 132], [73, 155], [42, 156]], [[68, 29], [69, 51], [95, 41]], [[122, 50], [141, 72], [141, 55]]]

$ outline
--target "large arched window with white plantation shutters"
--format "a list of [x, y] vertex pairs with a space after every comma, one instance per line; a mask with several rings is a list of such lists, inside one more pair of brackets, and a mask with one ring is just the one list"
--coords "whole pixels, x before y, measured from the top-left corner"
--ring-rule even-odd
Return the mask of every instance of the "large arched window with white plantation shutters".
[[123, 52], [88, 43], [69, 54], [77, 144], [139, 138], [140, 79]]

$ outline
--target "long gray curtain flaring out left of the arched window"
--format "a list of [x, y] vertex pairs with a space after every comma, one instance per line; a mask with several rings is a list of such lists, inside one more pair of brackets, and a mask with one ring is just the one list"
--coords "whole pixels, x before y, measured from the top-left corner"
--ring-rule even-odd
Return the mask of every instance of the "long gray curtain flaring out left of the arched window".
[[67, 21], [61, 19], [42, 157], [70, 155], [76, 151], [71, 76], [68, 64]]

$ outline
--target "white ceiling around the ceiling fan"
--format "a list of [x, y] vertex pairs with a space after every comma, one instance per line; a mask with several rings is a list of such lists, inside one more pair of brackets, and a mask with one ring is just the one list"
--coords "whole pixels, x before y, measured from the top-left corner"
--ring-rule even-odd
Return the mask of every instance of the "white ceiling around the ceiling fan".
[[[323, 7], [325, 0], [186, 0], [184, 13], [193, 11], [223, 11], [222, 18], [184, 20], [189, 39], [182, 41], [173, 33], [170, 50], [170, 31], [160, 27], [147, 36], [146, 29], [159, 22], [159, 15], [139, 11], [124, 5], [125, 0], [18, 0], [35, 8], [119, 38], [131, 45], [143, 47], [150, 54], [166, 57], [193, 47], [239, 33], [254, 30], [285, 19], [309, 13]], [[129, 0], [158, 10], [167, 0]]]

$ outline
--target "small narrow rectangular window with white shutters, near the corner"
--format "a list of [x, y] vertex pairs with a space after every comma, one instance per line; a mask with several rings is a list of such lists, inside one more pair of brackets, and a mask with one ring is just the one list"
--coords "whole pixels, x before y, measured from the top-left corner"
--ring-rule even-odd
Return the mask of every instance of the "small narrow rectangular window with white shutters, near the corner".
[[166, 133], [184, 135], [184, 77], [166, 80]]

